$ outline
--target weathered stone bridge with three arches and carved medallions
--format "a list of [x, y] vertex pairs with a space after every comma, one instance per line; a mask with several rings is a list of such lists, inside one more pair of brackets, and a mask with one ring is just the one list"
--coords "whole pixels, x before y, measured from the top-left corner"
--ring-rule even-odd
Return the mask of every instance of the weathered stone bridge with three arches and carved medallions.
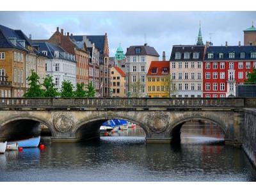
[[147, 142], [179, 141], [185, 122], [205, 120], [223, 130], [227, 143], [243, 143], [245, 108], [256, 108], [256, 99], [2, 98], [0, 140], [38, 134], [40, 123], [49, 128], [52, 141], [89, 140], [99, 138], [102, 122], [122, 118], [140, 125]]

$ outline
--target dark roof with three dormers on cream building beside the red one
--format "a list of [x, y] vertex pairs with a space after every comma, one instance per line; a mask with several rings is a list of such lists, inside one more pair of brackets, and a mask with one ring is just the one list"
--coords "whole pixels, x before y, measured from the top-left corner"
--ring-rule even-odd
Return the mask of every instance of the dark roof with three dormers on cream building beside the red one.
[[[173, 45], [170, 61], [203, 61], [204, 45]], [[175, 60], [175, 52], [180, 52], [181, 57]], [[184, 52], [190, 52], [190, 59], [184, 59]], [[193, 58], [193, 52], [199, 52], [199, 58]]]

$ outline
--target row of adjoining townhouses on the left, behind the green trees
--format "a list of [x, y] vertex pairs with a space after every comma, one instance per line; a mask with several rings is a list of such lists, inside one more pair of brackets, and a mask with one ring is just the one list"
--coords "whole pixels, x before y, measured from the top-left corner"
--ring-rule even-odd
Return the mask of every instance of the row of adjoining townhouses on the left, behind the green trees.
[[92, 82], [97, 97], [108, 97], [108, 36], [73, 35], [57, 28], [47, 40], [32, 40], [21, 30], [0, 25], [1, 97], [22, 97], [31, 70], [40, 83], [46, 75], [52, 76], [59, 90], [63, 81], [70, 81], [74, 88], [76, 83]]

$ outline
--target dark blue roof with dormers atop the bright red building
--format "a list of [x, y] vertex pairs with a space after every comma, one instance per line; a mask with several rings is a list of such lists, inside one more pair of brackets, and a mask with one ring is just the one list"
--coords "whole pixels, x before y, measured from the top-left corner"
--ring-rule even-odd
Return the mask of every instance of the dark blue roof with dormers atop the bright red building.
[[[207, 54], [209, 52], [214, 53], [212, 59], [208, 59]], [[223, 58], [219, 58], [219, 53], [223, 52]], [[229, 52], [235, 52], [235, 58], [228, 58]], [[241, 52], [245, 53], [245, 58], [241, 58]], [[256, 52], [256, 46], [245, 45], [245, 46], [210, 46], [205, 51], [205, 61], [212, 60], [256, 60], [251, 58], [251, 52]]]

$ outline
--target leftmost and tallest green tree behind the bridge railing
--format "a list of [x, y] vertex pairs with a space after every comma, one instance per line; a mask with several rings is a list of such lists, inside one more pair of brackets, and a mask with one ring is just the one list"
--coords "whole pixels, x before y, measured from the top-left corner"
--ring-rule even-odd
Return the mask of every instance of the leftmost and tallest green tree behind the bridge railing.
[[29, 81], [29, 88], [24, 94], [24, 97], [44, 97], [44, 91], [41, 88], [39, 79], [40, 77], [38, 74], [36, 74], [34, 70], [31, 70], [31, 76], [27, 78], [27, 81]]

